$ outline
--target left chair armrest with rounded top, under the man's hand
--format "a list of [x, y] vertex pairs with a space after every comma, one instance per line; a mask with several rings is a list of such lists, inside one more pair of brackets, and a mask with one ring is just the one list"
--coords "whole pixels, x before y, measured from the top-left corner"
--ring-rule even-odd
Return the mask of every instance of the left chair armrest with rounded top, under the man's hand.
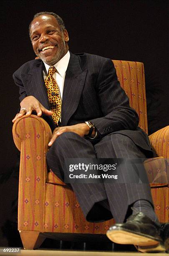
[[13, 125], [13, 139], [20, 150], [18, 230], [44, 229], [45, 156], [51, 135], [49, 125], [36, 115], [23, 116]]

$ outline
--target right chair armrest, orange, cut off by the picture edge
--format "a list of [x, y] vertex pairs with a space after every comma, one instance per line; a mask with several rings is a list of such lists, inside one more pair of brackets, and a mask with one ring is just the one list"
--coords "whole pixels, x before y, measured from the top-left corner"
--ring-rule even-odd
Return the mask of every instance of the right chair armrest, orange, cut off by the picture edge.
[[151, 134], [149, 140], [156, 156], [169, 159], [169, 125]]

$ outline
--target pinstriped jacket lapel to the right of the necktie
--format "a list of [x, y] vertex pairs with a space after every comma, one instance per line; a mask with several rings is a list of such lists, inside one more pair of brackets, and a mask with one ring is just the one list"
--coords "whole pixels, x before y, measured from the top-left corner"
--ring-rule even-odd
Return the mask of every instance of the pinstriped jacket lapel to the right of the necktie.
[[83, 91], [87, 69], [82, 70], [78, 56], [71, 54], [63, 89], [62, 100], [62, 126], [67, 125], [68, 120], [75, 113]]

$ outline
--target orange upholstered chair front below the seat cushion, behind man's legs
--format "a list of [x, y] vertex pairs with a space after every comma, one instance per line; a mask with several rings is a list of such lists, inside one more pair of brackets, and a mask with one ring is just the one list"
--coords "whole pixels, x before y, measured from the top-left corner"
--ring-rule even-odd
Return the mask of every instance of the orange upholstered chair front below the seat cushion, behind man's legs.
[[90, 223], [71, 189], [60, 185], [48, 184], [45, 187], [44, 232], [58, 233], [106, 233], [114, 220]]

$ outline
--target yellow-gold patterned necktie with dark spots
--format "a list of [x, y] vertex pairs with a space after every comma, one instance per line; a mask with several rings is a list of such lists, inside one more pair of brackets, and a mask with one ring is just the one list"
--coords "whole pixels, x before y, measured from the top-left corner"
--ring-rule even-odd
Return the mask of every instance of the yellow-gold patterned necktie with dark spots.
[[53, 78], [53, 74], [56, 72], [55, 67], [50, 67], [48, 71], [48, 76], [45, 79], [45, 86], [48, 93], [48, 99], [50, 103], [50, 110], [53, 111], [53, 121], [58, 125], [58, 122], [61, 118], [61, 96], [58, 84]]

